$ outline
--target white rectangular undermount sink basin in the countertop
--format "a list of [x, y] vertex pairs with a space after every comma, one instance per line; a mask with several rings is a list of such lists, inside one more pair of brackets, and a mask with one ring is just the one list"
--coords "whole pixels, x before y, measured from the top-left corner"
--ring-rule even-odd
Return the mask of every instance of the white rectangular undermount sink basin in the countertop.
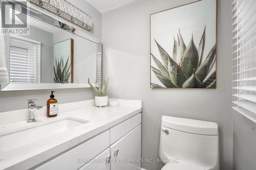
[[0, 151], [8, 152], [86, 123], [88, 122], [69, 117], [5, 134], [0, 136]]

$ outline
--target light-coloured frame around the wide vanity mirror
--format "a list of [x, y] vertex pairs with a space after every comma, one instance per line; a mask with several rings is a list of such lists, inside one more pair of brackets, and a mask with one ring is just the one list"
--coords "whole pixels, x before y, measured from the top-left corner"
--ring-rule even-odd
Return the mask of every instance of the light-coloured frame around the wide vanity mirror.
[[[87, 39], [91, 42], [94, 42], [97, 46], [97, 53], [96, 53], [96, 83], [101, 84], [102, 83], [102, 44], [101, 41], [97, 38], [90, 36], [84, 30], [80, 30], [79, 28], [76, 28], [77, 26], [73, 25], [72, 22], [69, 22], [67, 20], [64, 20], [56, 15], [53, 15], [49, 11], [42, 9], [30, 2], [27, 2], [28, 6], [23, 6], [23, 8], [27, 8], [27, 11], [29, 16], [34, 17], [36, 19], [42, 20], [46, 22], [47, 24], [50, 24], [54, 27], [60, 28], [57, 23], [62, 22], [65, 23], [77, 30], [75, 30], [75, 33], [72, 33], [70, 31], [70, 34], [75, 34], [79, 37], [82, 37], [84, 39]], [[20, 4], [19, 4], [20, 5]], [[31, 8], [33, 7], [33, 8]], [[22, 10], [20, 10], [21, 12]], [[67, 23], [69, 22], [69, 23]], [[95, 83], [93, 83], [95, 85]], [[41, 89], [65, 89], [65, 88], [90, 88], [90, 85], [88, 83], [67, 83], [67, 84], [60, 84], [60, 83], [7, 83], [7, 84], [0, 84], [0, 90], [1, 91], [15, 91], [15, 90], [41, 90]]]

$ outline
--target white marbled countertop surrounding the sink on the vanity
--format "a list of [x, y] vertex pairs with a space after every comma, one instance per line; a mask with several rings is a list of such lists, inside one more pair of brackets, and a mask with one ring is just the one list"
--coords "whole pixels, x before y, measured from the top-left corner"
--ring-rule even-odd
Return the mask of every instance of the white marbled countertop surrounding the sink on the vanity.
[[[124, 102], [123, 102], [124, 101]], [[13, 129], [22, 128], [31, 125], [39, 125], [47, 121], [63, 119], [65, 117], [79, 118], [89, 121], [84, 125], [72, 128], [68, 131], [58, 133], [57, 135], [30, 143], [11, 151], [0, 151], [0, 169], [28, 169], [49, 158], [66, 151], [80, 142], [103, 132], [111, 127], [123, 122], [124, 120], [138, 114], [142, 111], [141, 101], [119, 101], [118, 107], [95, 107], [90, 106], [77, 110], [62, 112], [57, 117], [47, 118], [38, 117], [35, 123], [26, 123], [25, 120], [0, 125], [1, 134], [10, 132]], [[120, 103], [121, 102], [121, 103]], [[135, 104], [137, 102], [137, 104]], [[1, 121], [1, 120], [0, 120]], [[29, 136], [24, 136], [29, 137]], [[18, 139], [13, 139], [18, 140]]]

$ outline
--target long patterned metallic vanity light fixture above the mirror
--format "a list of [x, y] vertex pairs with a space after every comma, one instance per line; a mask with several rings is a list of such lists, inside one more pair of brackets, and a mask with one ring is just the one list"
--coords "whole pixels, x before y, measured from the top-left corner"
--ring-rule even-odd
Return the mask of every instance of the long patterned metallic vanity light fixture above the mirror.
[[92, 30], [92, 17], [66, 0], [29, 0], [31, 3], [46, 9], [75, 25], [88, 31]]

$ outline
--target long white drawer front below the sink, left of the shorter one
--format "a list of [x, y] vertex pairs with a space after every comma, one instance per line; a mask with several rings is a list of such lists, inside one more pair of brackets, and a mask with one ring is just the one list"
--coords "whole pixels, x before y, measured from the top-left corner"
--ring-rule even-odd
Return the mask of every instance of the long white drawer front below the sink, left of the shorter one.
[[100, 152], [104, 151], [110, 145], [110, 131], [102, 134], [78, 145], [74, 149], [54, 158], [53, 160], [39, 166], [36, 170], [61, 169], [72, 170], [78, 169], [84, 163], [78, 162], [79, 159], [92, 159]]

